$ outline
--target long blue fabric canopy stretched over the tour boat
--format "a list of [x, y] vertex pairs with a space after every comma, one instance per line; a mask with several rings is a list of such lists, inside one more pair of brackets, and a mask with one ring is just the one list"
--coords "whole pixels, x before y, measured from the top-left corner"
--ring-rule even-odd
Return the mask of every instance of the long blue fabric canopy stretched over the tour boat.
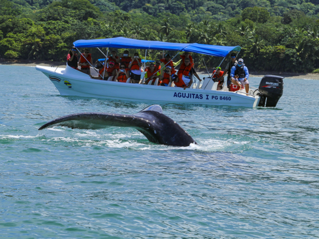
[[115, 37], [95, 40], [77, 40], [73, 42], [75, 47], [112, 47], [132, 49], [153, 49], [188, 51], [199, 54], [225, 57], [231, 51], [240, 51], [240, 46], [214, 46], [198, 43], [171, 43], [162, 41], [145, 41], [125, 37]]

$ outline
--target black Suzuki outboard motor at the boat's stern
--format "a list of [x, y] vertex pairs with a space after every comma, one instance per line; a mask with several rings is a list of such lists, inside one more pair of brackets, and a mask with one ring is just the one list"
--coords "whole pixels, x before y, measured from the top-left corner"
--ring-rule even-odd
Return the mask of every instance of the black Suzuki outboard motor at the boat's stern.
[[261, 107], [275, 107], [284, 92], [284, 77], [267, 75], [259, 84], [259, 105]]

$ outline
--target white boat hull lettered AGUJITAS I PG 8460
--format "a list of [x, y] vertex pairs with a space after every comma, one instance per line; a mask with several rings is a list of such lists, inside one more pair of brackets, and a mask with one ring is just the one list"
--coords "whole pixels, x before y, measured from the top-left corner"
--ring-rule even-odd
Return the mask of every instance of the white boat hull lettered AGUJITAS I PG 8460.
[[36, 66], [54, 84], [62, 96], [80, 96], [114, 100], [202, 104], [214, 106], [256, 107], [259, 97], [234, 92], [186, 89], [176, 87], [128, 84], [91, 79], [88, 75], [67, 68]]

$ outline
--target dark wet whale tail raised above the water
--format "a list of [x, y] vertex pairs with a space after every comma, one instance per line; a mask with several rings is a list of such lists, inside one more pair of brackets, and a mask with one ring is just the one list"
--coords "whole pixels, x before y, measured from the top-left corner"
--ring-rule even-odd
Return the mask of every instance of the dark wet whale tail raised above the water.
[[78, 113], [63, 116], [43, 124], [39, 130], [57, 125], [81, 129], [98, 129], [106, 126], [132, 127], [154, 143], [183, 147], [191, 143], [197, 144], [174, 120], [162, 114], [159, 105], [147, 107], [135, 115]]

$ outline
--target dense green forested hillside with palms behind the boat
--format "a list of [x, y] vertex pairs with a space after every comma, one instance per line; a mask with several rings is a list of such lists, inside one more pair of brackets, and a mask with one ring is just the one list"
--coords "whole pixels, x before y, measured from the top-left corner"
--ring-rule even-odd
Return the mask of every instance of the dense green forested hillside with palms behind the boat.
[[[57, 61], [75, 40], [125, 36], [240, 45], [249, 69], [310, 72], [318, 13], [319, 0], [0, 0], [0, 57]], [[220, 61], [193, 56], [197, 67]]]

